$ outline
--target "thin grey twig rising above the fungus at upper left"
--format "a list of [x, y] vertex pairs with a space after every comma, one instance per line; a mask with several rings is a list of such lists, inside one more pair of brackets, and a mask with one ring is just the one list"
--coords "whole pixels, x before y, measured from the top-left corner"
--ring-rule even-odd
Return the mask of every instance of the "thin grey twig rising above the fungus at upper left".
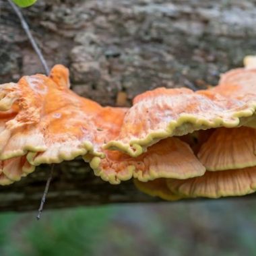
[[28, 39], [30, 40], [34, 51], [36, 51], [36, 54], [38, 55], [42, 66], [44, 67], [44, 70], [46, 72], [47, 75], [49, 75], [49, 67], [44, 59], [44, 56], [42, 55], [42, 52], [40, 51], [38, 45], [36, 44], [36, 41], [34, 40], [34, 37], [32, 36], [31, 32], [30, 32], [30, 28], [26, 22], [26, 20], [24, 19], [22, 12], [20, 11], [20, 9], [15, 5], [15, 3], [13, 3], [11, 0], [7, 0], [9, 2], [9, 4], [11, 5], [11, 7], [13, 8], [13, 10], [15, 11], [15, 13], [18, 15], [20, 22], [22, 24], [22, 28], [24, 29], [24, 31], [26, 32]]

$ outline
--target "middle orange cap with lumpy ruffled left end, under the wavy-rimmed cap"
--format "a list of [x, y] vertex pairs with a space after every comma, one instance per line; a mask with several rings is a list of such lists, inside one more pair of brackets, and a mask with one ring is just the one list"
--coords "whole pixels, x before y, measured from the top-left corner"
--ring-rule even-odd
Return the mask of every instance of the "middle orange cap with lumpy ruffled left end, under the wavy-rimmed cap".
[[105, 153], [106, 158], [94, 157], [90, 166], [97, 176], [113, 184], [131, 177], [146, 182], [158, 178], [188, 179], [205, 173], [189, 145], [176, 137], [159, 141], [137, 158], [119, 151]]

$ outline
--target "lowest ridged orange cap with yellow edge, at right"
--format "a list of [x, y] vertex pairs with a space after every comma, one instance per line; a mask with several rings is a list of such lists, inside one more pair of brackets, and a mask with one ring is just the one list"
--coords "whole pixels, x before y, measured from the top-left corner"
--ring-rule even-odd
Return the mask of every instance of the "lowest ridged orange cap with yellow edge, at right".
[[166, 184], [172, 193], [185, 197], [228, 197], [247, 195], [256, 191], [256, 166], [205, 172], [202, 177], [186, 180], [167, 179]]

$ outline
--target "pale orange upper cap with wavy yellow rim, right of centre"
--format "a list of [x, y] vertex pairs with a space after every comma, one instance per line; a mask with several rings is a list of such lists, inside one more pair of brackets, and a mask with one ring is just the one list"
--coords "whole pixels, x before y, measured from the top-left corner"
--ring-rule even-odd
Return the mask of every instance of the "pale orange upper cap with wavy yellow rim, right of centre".
[[228, 98], [214, 90], [193, 92], [186, 88], [158, 88], [134, 99], [117, 139], [104, 146], [139, 156], [160, 139], [181, 136], [200, 129], [237, 127], [252, 117], [253, 101]]

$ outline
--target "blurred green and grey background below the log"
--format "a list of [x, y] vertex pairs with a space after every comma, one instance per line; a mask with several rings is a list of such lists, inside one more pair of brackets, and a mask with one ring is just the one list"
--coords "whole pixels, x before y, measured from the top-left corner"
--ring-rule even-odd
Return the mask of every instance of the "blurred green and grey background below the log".
[[0, 215], [2, 256], [256, 255], [254, 199]]

